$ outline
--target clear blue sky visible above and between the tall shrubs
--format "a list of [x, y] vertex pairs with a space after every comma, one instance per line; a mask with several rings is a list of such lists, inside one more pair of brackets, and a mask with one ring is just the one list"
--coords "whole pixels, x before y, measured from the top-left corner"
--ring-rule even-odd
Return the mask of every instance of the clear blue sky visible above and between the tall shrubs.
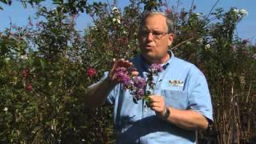
[[[177, 6], [178, 0], [166, 0], [168, 6]], [[51, 6], [51, 0], [46, 0], [42, 3], [43, 6]], [[92, 1], [89, 1], [92, 2]], [[98, 1], [96, 1], [98, 2]], [[110, 4], [113, 1], [109, 1]], [[111, 3], [112, 2], [112, 3]], [[118, 1], [117, 6], [122, 8], [128, 5], [128, 0]], [[190, 8], [192, 0], [180, 0], [180, 8], [184, 7], [186, 10]], [[217, 0], [194, 0], [194, 5], [197, 6], [195, 13], [209, 14], [212, 6]], [[28, 18], [35, 17], [35, 9], [31, 6], [27, 6], [25, 9], [21, 2], [16, 2], [14, 0], [12, 6], [6, 6], [0, 2], [0, 6], [4, 10], [0, 10], [0, 31], [5, 30], [6, 27], [10, 26], [10, 22], [16, 26], [26, 26], [28, 24]], [[224, 10], [230, 10], [231, 7], [236, 7], [238, 10], [244, 9], [249, 14], [238, 23], [237, 34], [239, 38], [249, 39], [251, 42], [256, 42], [256, 0], [219, 0], [218, 5], [215, 8], [222, 7]], [[35, 22], [36, 20], [34, 20]], [[92, 25], [91, 18], [84, 14], [80, 14], [77, 19], [76, 28], [78, 30], [83, 30], [86, 26]]]

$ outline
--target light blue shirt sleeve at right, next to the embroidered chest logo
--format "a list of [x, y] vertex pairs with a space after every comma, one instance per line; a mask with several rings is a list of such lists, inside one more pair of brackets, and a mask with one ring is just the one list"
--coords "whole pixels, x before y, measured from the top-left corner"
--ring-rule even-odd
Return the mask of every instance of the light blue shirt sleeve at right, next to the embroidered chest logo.
[[213, 122], [213, 108], [206, 77], [197, 68], [190, 71], [189, 77], [191, 85], [188, 109], [198, 111], [208, 121]]

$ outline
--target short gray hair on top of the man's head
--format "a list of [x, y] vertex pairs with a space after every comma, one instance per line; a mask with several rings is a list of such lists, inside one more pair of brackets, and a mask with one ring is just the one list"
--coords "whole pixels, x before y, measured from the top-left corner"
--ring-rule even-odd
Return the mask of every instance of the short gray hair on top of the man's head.
[[163, 17], [166, 18], [167, 33], [174, 33], [173, 21], [170, 18], [168, 18], [167, 14], [165, 14], [163, 12], [159, 12], [159, 11], [149, 11], [149, 12], [144, 13], [142, 15], [142, 20], [140, 22], [140, 27], [145, 24], [145, 19], [146, 18], [148, 18], [150, 16], [153, 16], [153, 15], [156, 15], [156, 14], [162, 15]]

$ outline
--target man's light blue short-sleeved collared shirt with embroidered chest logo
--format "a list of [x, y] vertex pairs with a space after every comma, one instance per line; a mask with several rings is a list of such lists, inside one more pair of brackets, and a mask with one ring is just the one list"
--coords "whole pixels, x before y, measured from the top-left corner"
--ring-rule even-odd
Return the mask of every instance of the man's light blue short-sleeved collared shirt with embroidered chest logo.
[[[171, 57], [163, 65], [164, 70], [154, 77], [155, 86], [151, 93], [162, 95], [167, 106], [198, 111], [213, 121], [210, 93], [204, 74], [193, 64], [174, 57], [171, 51], [169, 53]], [[133, 62], [140, 76], [146, 78], [149, 65], [144, 58], [138, 55], [130, 62]], [[121, 84], [110, 92], [107, 102], [114, 105], [116, 143], [196, 143], [195, 130], [183, 130], [162, 120], [143, 100], [134, 103], [130, 91], [124, 90]]]

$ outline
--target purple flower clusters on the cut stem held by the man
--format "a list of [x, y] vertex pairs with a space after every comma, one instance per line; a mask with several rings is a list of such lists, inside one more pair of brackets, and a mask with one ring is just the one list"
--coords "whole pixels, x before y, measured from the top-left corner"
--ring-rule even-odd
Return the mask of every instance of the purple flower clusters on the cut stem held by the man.
[[136, 70], [135, 68], [126, 67], [118, 67], [114, 70], [114, 76], [119, 83], [122, 83], [123, 87], [127, 90], [130, 90], [130, 94], [133, 95], [134, 102], [137, 103], [139, 99], [146, 99], [146, 102], [149, 102], [149, 95], [150, 92], [146, 91], [146, 85], [150, 86], [151, 90], [154, 90], [154, 75], [158, 75], [161, 72], [162, 66], [158, 64], [153, 64], [150, 66], [149, 73], [147, 74], [146, 78], [142, 78], [139, 76], [134, 76], [131, 74], [132, 71]]

